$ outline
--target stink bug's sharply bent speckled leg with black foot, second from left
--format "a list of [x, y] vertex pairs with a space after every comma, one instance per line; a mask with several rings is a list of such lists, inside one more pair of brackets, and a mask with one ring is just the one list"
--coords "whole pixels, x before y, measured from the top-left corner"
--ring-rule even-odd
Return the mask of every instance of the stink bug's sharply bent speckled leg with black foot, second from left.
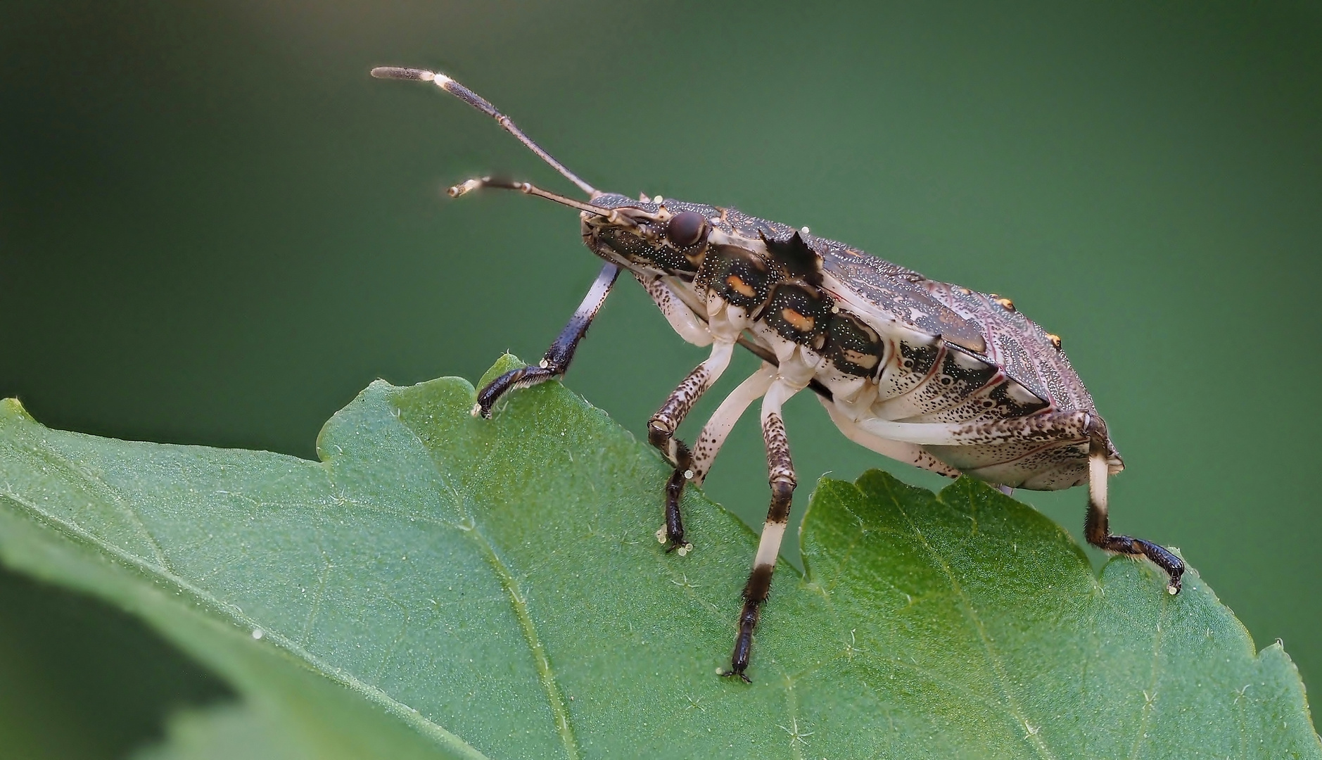
[[665, 485], [665, 533], [657, 531], [661, 543], [669, 543], [670, 549], [678, 549], [681, 554], [687, 554], [690, 546], [683, 541], [683, 518], [680, 514], [680, 496], [683, 494], [683, 484], [693, 477], [693, 455], [689, 447], [674, 437], [683, 418], [689, 416], [693, 404], [698, 403], [702, 394], [726, 371], [730, 366], [730, 357], [734, 354], [735, 344], [719, 341], [711, 346], [711, 356], [702, 362], [689, 377], [683, 378], [670, 398], [665, 399], [661, 408], [648, 420], [648, 443], [661, 449], [666, 460], [674, 467], [670, 481]]

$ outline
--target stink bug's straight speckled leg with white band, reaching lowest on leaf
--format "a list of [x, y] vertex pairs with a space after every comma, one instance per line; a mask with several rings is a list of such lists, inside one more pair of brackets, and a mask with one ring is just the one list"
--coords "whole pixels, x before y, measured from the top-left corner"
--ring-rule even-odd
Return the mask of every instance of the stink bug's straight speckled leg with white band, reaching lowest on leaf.
[[758, 627], [761, 604], [771, 592], [771, 574], [776, 570], [776, 556], [780, 555], [780, 541], [785, 537], [796, 485], [795, 465], [789, 459], [789, 439], [785, 437], [780, 407], [798, 390], [780, 381], [771, 386], [761, 402], [761, 437], [767, 444], [771, 508], [767, 510], [767, 522], [761, 526], [761, 539], [758, 542], [758, 555], [752, 560], [748, 584], [744, 586], [744, 603], [739, 612], [739, 633], [735, 636], [734, 654], [730, 656], [730, 670], [723, 674], [738, 675], [750, 683], [744, 670], [748, 669], [748, 654], [752, 650], [752, 630]]

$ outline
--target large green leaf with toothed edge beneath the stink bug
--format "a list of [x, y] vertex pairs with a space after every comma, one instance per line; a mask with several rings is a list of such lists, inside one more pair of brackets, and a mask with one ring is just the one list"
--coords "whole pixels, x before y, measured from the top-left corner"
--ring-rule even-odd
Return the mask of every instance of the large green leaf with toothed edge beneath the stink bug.
[[[514, 366], [505, 357], [492, 373]], [[1322, 757], [1303, 685], [1196, 572], [1095, 576], [974, 481], [822, 480], [750, 669], [718, 678], [755, 537], [558, 383], [493, 420], [444, 378], [369, 386], [320, 463], [50, 431], [0, 408], [0, 559], [144, 619], [316, 757]], [[255, 632], [260, 630], [260, 638]], [[208, 739], [212, 738], [212, 739]], [[152, 756], [152, 755], [147, 755]]]

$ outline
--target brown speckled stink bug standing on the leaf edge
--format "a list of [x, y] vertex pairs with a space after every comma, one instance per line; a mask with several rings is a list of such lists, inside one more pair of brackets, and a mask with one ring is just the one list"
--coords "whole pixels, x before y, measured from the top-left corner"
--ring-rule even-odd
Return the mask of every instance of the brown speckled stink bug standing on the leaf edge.
[[[587, 193], [576, 201], [483, 177], [449, 189], [520, 190], [578, 209], [583, 242], [605, 260], [596, 282], [541, 363], [512, 370], [477, 394], [473, 415], [489, 418], [506, 393], [558, 378], [628, 270], [680, 337], [711, 356], [648, 422], [648, 440], [674, 467], [657, 538], [686, 554], [680, 496], [701, 484], [730, 428], [761, 398], [771, 509], [743, 589], [734, 654], [724, 675], [748, 681], [752, 633], [767, 600], [789, 521], [795, 468], [780, 410], [801, 390], [817, 394], [850, 440], [945, 476], [969, 475], [1003, 490], [1056, 490], [1088, 484], [1084, 535], [1107, 551], [1146, 556], [1178, 593], [1185, 563], [1166, 549], [1113, 535], [1107, 478], [1124, 468], [1107, 423], [1060, 350], [1060, 338], [994, 293], [929, 280], [808, 229], [734, 209], [604, 193], [580, 180], [484, 98], [444, 74], [379, 67], [383, 79], [431, 82], [496, 119], [524, 145]], [[720, 403], [691, 449], [674, 437], [693, 404], [730, 365], [735, 344], [763, 360]]]

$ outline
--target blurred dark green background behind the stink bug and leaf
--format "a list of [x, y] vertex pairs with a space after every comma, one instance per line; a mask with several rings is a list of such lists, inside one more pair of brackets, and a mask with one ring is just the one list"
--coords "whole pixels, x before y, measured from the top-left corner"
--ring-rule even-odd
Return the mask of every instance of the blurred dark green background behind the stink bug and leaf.
[[[11, 0], [0, 62], [0, 395], [49, 426], [312, 457], [373, 378], [539, 357], [598, 262], [572, 211], [443, 197], [492, 172], [571, 188], [459, 102], [368, 77], [439, 67], [600, 188], [1014, 297], [1064, 337], [1125, 455], [1113, 526], [1181, 547], [1259, 646], [1284, 638], [1322, 679], [1317, 5]], [[641, 436], [703, 354], [621, 280], [567, 385]], [[809, 397], [787, 412], [800, 514], [826, 472], [943, 484]], [[761, 521], [755, 424], [707, 492]], [[1081, 490], [1018, 496], [1077, 535]], [[24, 683], [87, 716], [111, 694], [155, 715], [225, 693], [186, 662], [120, 678], [61, 657], [167, 656], [38, 591], [0, 575], [11, 747], [62, 752], [4, 707]], [[102, 723], [74, 755], [152, 732]]]

